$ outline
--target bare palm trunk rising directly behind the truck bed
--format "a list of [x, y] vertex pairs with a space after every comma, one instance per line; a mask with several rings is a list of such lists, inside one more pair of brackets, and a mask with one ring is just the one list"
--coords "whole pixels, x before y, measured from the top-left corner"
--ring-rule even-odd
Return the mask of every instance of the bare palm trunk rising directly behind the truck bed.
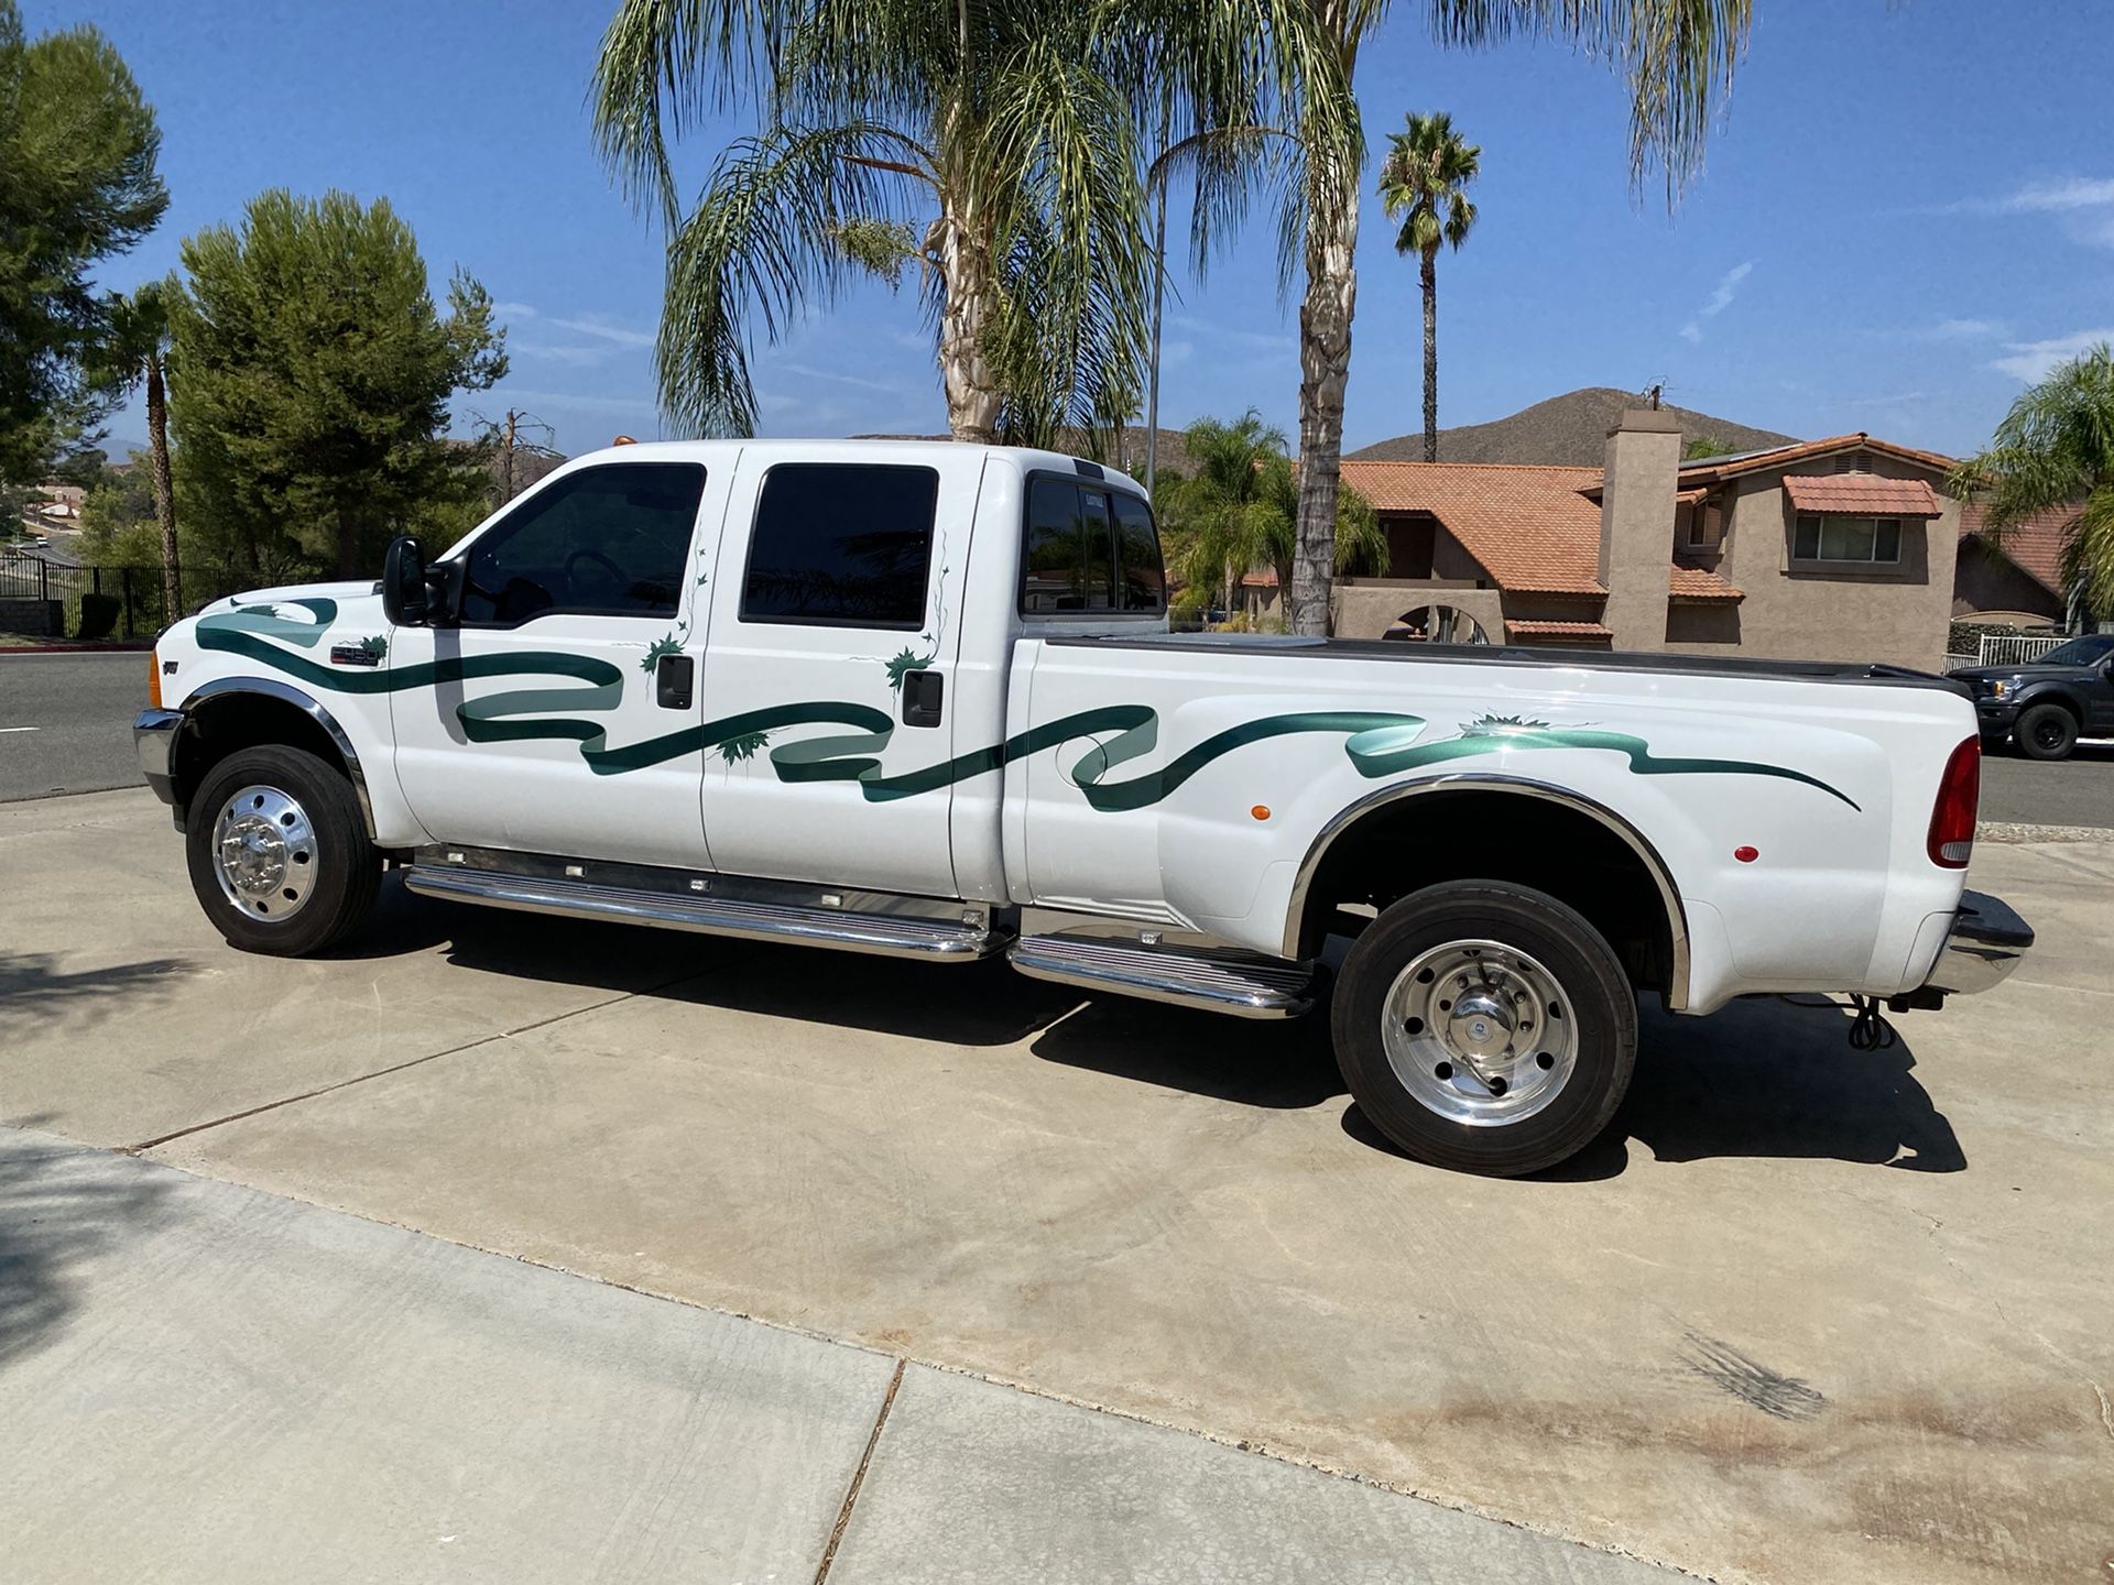
[[1325, 636], [1336, 577], [1336, 484], [1342, 465], [1342, 393], [1351, 380], [1357, 309], [1357, 173], [1340, 203], [1311, 203], [1306, 298], [1300, 302], [1300, 524], [1287, 592], [1287, 630]]

